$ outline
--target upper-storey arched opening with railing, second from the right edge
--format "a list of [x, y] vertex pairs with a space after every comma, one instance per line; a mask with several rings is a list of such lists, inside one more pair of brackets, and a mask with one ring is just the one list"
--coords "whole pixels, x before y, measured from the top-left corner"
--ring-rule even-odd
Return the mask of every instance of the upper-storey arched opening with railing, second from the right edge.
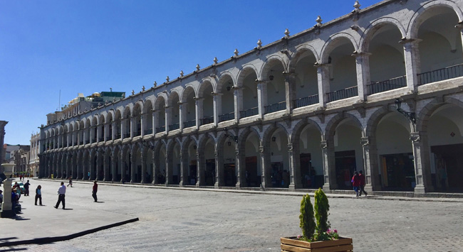
[[373, 32], [368, 48], [371, 53], [368, 94], [406, 87], [404, 49], [397, 43], [402, 33], [390, 23], [378, 25]]

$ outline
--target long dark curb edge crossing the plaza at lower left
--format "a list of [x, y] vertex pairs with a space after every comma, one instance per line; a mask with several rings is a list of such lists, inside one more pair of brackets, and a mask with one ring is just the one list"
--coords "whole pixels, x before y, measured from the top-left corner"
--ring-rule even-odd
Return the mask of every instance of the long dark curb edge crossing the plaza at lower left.
[[120, 222], [116, 222], [116, 223], [109, 224], [109, 225], [106, 225], [106, 226], [100, 226], [100, 227], [97, 227], [95, 229], [88, 229], [88, 230], [85, 230], [85, 231], [78, 232], [76, 234], [70, 234], [68, 236], [43, 237], [43, 238], [36, 238], [36, 239], [23, 240], [23, 241], [7, 241], [7, 242], [4, 242], [4, 243], [0, 243], [0, 247], [18, 246], [18, 245], [26, 245], [26, 244], [53, 243], [53, 242], [56, 242], [56, 241], [67, 241], [67, 240], [71, 240], [71, 239], [74, 239], [74, 238], [77, 238], [77, 237], [80, 237], [80, 236], [85, 236], [87, 234], [92, 234], [92, 233], [95, 233], [97, 231], [101, 231], [101, 230], [104, 230], [104, 229], [110, 229], [110, 228], [115, 227], [115, 226], [122, 226], [124, 224], [128, 224], [128, 223], [135, 222], [135, 221], [139, 221], [139, 219], [138, 218], [128, 219], [127, 221], [120, 221]]

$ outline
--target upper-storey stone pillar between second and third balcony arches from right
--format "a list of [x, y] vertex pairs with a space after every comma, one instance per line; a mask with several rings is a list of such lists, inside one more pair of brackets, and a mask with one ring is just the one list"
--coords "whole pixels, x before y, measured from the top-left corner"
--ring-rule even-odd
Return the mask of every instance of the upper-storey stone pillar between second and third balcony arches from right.
[[357, 69], [358, 102], [365, 102], [370, 84], [370, 53], [354, 53], [355, 67]]

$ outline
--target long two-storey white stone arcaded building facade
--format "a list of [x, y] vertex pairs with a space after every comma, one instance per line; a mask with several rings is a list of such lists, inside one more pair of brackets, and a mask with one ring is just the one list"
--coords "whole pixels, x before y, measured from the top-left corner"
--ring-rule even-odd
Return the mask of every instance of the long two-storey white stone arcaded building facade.
[[463, 0], [386, 0], [40, 133], [41, 177], [463, 192]]

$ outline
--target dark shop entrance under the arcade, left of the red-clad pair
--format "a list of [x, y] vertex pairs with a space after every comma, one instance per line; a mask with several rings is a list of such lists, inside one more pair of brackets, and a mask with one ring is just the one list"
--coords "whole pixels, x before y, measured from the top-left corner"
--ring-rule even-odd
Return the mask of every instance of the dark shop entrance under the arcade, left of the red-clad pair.
[[335, 155], [336, 164], [336, 183], [338, 189], [350, 190], [352, 183], [350, 179], [355, 170], [357, 170], [355, 163], [355, 150], [337, 151]]

